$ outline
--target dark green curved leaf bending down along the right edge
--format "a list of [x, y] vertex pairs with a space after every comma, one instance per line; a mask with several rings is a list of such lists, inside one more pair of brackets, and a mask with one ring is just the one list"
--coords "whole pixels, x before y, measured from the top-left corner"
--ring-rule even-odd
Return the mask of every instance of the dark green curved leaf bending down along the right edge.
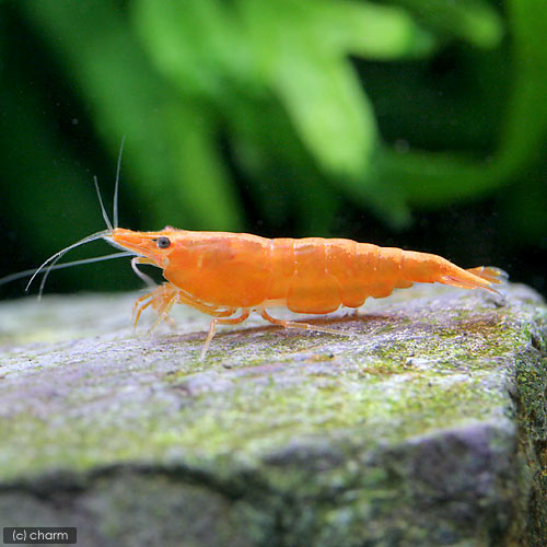
[[396, 181], [409, 202], [438, 207], [482, 197], [537, 161], [547, 136], [547, 4], [511, 0], [513, 86], [497, 150], [487, 159], [455, 153], [384, 149], [383, 177]]

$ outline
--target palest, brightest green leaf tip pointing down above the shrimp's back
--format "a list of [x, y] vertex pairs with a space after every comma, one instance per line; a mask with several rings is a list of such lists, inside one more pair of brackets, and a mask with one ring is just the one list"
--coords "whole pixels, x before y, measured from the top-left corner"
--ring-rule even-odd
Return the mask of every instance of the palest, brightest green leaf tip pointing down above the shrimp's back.
[[259, 66], [310, 152], [326, 172], [362, 176], [377, 138], [374, 114], [349, 61], [317, 32], [316, 5], [241, 4]]

